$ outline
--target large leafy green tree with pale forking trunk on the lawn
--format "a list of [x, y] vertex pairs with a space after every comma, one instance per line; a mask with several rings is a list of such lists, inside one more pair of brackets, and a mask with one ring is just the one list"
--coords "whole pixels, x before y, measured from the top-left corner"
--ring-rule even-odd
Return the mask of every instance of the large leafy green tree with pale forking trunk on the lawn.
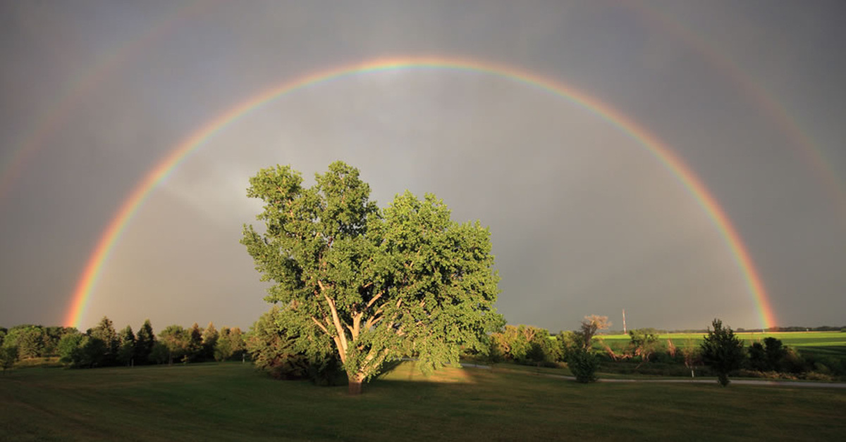
[[275, 282], [266, 300], [294, 312], [285, 326], [300, 350], [338, 352], [350, 393], [389, 359], [457, 363], [460, 346], [481, 349], [501, 325], [490, 233], [452, 221], [434, 195], [379, 210], [358, 169], [337, 161], [310, 188], [289, 166], [262, 169], [247, 196], [265, 203], [265, 231], [244, 225], [241, 243]]

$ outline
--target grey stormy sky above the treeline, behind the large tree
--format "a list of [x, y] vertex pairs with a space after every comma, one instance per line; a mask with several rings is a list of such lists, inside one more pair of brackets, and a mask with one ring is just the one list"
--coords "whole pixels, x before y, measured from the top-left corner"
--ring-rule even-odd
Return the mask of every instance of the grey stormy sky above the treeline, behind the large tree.
[[[625, 309], [629, 329], [846, 325], [844, 14], [837, 0], [0, 3], [0, 325], [67, 322], [121, 206], [185, 139], [263, 91], [392, 57], [500, 68], [346, 74], [219, 128], [128, 218], [80, 329], [103, 315], [248, 328], [270, 308], [239, 244], [261, 210], [249, 177], [282, 164], [313, 183], [336, 160], [382, 207], [431, 192], [489, 226], [510, 324], [601, 314], [622, 329]], [[635, 133], [695, 175], [723, 224]]]

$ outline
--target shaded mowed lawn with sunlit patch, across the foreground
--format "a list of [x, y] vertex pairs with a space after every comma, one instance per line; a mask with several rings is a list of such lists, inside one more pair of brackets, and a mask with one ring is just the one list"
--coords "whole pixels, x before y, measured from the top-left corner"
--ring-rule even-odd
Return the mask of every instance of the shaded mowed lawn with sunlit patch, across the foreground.
[[841, 439], [846, 390], [599, 383], [403, 363], [365, 386], [278, 381], [250, 364], [18, 369], [3, 440]]

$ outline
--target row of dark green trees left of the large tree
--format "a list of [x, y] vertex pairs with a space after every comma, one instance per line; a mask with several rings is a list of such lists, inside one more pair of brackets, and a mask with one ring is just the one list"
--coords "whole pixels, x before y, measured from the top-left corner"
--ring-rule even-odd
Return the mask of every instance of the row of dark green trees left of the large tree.
[[188, 329], [169, 325], [158, 336], [150, 319], [136, 334], [129, 325], [115, 330], [112, 320], [105, 316], [85, 333], [74, 327], [42, 325], [0, 328], [4, 369], [36, 357], [58, 357], [61, 363], [76, 368], [226, 361], [243, 359], [245, 350], [244, 333], [238, 327], [218, 331], [212, 323], [205, 329], [196, 323]]

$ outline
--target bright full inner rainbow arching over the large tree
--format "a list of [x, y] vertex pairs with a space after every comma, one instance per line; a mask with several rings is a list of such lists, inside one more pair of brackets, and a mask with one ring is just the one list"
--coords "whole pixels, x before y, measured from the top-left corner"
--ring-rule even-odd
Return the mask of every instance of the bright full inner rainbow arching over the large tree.
[[387, 57], [306, 74], [305, 76], [286, 81], [281, 85], [254, 95], [239, 105], [230, 108], [228, 111], [222, 112], [206, 123], [206, 125], [197, 129], [188, 138], [179, 143], [179, 145], [176, 145], [162, 161], [159, 161], [157, 166], [153, 167], [140, 183], [135, 186], [129, 197], [124, 199], [124, 203], [120, 206], [112, 220], [109, 221], [105, 232], [102, 233], [93, 254], [91, 254], [91, 258], [88, 259], [85, 265], [85, 270], [74, 288], [71, 306], [64, 319], [64, 323], [79, 327], [103, 266], [106, 264], [109, 255], [121, 237], [122, 232], [124, 232], [124, 229], [129, 224], [129, 221], [132, 221], [135, 213], [144, 203], [147, 196], [151, 194], [152, 190], [156, 188], [157, 184], [167, 178], [182, 161], [206, 143], [208, 139], [211, 139], [211, 137], [222, 131], [222, 129], [227, 128], [229, 124], [239, 120], [239, 118], [295, 90], [302, 90], [309, 86], [320, 85], [332, 79], [341, 79], [357, 74], [407, 68], [448, 69], [510, 79], [519, 84], [545, 90], [553, 95], [566, 98], [583, 107], [585, 110], [592, 112], [597, 117], [601, 117], [613, 126], [616, 126], [625, 134], [628, 134], [632, 139], [638, 141], [651, 156], [654, 156], [657, 161], [665, 166], [689, 194], [695, 198], [702, 210], [711, 219], [714, 226], [717, 227], [717, 230], [728, 245], [733, 259], [739, 266], [747, 289], [755, 299], [755, 304], [760, 314], [761, 325], [770, 327], [776, 323], [775, 315], [772, 312], [766, 290], [761, 281], [761, 276], [755, 270], [755, 265], [750, 258], [749, 251], [740, 240], [738, 232], [732, 226], [725, 211], [717, 205], [717, 200], [714, 199], [711, 192], [700, 181], [699, 177], [696, 177], [695, 173], [684, 164], [684, 161], [676, 156], [660, 139], [657, 139], [656, 136], [650, 134], [645, 128], [640, 127], [629, 117], [624, 116], [613, 107], [558, 80], [545, 78], [538, 74], [502, 64], [481, 62], [470, 58], [451, 57]]

